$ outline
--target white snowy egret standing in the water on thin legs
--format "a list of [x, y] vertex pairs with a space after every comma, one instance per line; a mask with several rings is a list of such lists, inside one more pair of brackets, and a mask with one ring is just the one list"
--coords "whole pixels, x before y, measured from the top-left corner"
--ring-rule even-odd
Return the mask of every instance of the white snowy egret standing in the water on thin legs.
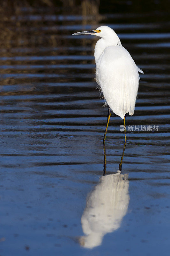
[[77, 32], [72, 35], [94, 35], [101, 37], [94, 49], [96, 80], [108, 105], [107, 125], [103, 140], [106, 140], [107, 127], [111, 116], [110, 109], [124, 119], [125, 114], [133, 115], [139, 86], [138, 68], [129, 52], [122, 46], [119, 37], [112, 28], [101, 26], [95, 30]]

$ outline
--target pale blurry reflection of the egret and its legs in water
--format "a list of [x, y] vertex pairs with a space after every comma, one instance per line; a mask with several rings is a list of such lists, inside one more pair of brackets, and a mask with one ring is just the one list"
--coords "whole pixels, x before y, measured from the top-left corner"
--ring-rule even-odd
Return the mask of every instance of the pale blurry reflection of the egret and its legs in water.
[[121, 174], [124, 144], [119, 171], [106, 175], [106, 150], [104, 142], [104, 174], [99, 183], [87, 196], [87, 203], [81, 217], [85, 236], [79, 238], [85, 248], [93, 248], [102, 243], [103, 236], [120, 228], [129, 205], [128, 174]]

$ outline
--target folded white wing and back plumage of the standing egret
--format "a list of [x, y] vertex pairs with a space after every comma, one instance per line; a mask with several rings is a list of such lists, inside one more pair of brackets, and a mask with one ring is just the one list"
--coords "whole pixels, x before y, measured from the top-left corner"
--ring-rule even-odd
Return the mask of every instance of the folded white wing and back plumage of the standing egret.
[[133, 115], [139, 84], [139, 69], [122, 46], [108, 46], [96, 63], [96, 78], [113, 112]]

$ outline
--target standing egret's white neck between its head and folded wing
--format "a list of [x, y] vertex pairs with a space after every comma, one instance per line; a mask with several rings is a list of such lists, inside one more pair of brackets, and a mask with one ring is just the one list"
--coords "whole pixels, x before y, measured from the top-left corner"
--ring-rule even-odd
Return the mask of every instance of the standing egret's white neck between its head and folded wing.
[[104, 51], [104, 49], [111, 45], [121, 45], [122, 46], [121, 41], [120, 41], [119, 37], [116, 35], [116, 33], [114, 34], [113, 37], [110, 37], [109, 39], [101, 38], [99, 41], [97, 41], [97, 43], [95, 45], [95, 49], [94, 49], [94, 58], [95, 58], [96, 64], [100, 58], [100, 55]]

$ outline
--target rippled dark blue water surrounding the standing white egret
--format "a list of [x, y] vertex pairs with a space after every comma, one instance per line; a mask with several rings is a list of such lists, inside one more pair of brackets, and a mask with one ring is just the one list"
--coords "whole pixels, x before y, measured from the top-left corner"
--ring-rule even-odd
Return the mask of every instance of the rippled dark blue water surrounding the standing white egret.
[[[57, 10], [25, 7], [0, 21], [0, 254], [169, 255], [167, 14]], [[139, 131], [127, 131], [118, 180], [100, 178], [107, 109], [95, 88], [97, 39], [71, 36], [99, 25], [144, 71], [126, 118]], [[122, 121], [112, 114], [107, 174], [121, 161]]]

